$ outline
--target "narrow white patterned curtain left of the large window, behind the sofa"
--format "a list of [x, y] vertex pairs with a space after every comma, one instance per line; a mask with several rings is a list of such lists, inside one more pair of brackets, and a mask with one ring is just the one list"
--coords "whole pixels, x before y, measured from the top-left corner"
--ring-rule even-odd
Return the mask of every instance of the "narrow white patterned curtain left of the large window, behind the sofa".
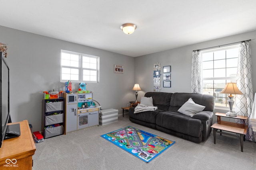
[[200, 51], [192, 53], [192, 93], [202, 93], [202, 61]]

